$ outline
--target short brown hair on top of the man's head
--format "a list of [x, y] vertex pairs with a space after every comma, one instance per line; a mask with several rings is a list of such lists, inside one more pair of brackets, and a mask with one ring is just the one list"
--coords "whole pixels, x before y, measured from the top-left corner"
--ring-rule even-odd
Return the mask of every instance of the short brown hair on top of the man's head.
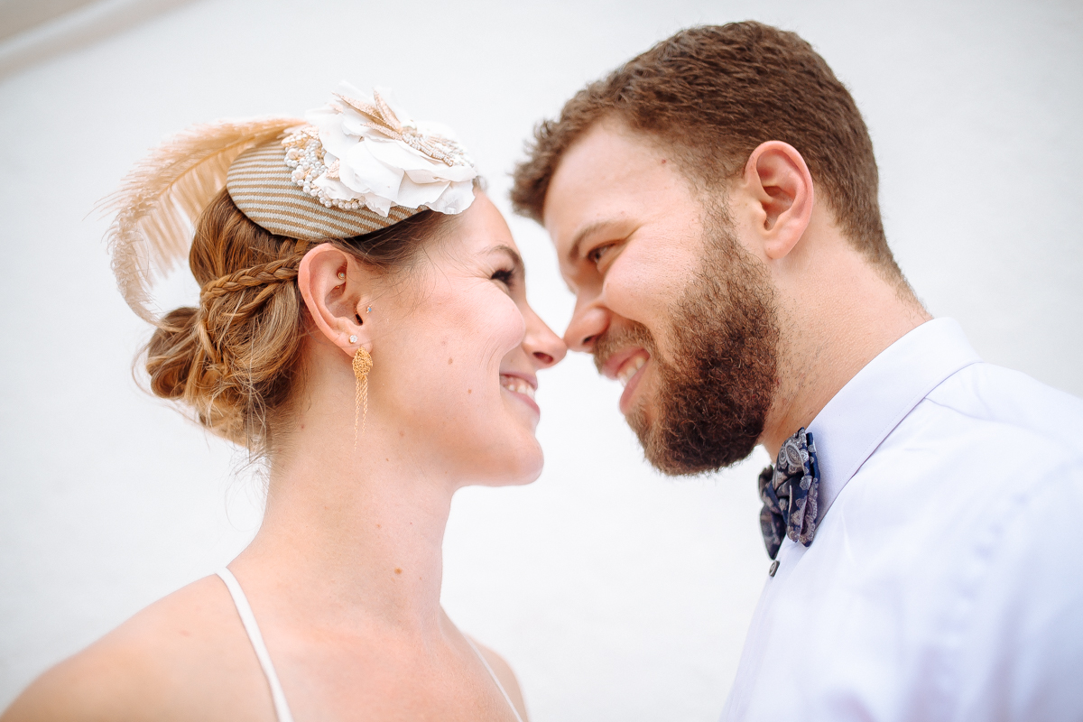
[[760, 143], [788, 143], [853, 247], [901, 278], [880, 221], [869, 129], [846, 87], [796, 34], [751, 21], [694, 27], [590, 83], [559, 119], [535, 129], [514, 171], [518, 213], [542, 222], [561, 158], [603, 119], [676, 153], [678, 168], [709, 189], [739, 175]]

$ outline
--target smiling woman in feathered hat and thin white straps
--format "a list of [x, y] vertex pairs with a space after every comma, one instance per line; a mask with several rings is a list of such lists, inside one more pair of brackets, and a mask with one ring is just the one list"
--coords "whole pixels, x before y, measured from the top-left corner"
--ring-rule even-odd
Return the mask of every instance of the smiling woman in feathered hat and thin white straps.
[[[458, 488], [540, 473], [535, 375], [564, 345], [449, 131], [352, 88], [306, 119], [193, 129], [113, 199], [151, 389], [266, 462], [256, 538], [4, 721], [526, 719], [440, 607], [441, 544]], [[185, 216], [199, 305], [154, 319], [146, 261]]]

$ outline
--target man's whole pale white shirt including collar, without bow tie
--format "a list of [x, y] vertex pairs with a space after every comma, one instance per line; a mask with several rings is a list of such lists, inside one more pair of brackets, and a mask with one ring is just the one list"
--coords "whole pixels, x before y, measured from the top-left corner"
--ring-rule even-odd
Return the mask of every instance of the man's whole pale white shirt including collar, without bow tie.
[[1083, 402], [945, 318], [809, 431], [822, 521], [783, 540], [722, 719], [1083, 720]]

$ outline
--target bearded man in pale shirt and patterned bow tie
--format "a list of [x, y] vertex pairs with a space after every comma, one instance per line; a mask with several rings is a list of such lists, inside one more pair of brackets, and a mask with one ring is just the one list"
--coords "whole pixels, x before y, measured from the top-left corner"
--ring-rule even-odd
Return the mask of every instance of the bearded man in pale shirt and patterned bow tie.
[[807, 42], [675, 35], [539, 126], [512, 195], [651, 463], [778, 457], [723, 719], [1083, 719], [1083, 403], [922, 306]]

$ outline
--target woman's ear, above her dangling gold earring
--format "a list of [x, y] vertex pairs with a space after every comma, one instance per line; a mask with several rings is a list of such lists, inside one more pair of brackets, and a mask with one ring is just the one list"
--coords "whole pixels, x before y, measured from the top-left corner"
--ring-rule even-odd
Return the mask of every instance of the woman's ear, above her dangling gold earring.
[[360, 345], [373, 350], [362, 309], [370, 302], [374, 281], [368, 268], [331, 244], [310, 250], [297, 270], [297, 287], [316, 331], [350, 356]]

